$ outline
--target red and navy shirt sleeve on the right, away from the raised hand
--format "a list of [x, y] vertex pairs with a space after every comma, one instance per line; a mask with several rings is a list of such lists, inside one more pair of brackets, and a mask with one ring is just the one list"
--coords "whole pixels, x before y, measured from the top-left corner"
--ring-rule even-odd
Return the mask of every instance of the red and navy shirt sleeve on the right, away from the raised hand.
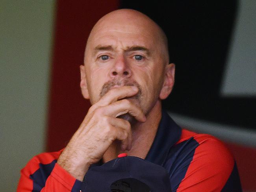
[[241, 192], [233, 156], [210, 135], [200, 134], [177, 145], [170, 170], [173, 192]]

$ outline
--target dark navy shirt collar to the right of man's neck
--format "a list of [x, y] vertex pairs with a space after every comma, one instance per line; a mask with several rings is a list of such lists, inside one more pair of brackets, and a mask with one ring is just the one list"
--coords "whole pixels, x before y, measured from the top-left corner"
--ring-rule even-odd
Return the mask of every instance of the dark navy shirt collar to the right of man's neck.
[[178, 142], [180, 136], [180, 126], [173, 121], [166, 111], [162, 110], [156, 137], [145, 160], [163, 166], [170, 148]]

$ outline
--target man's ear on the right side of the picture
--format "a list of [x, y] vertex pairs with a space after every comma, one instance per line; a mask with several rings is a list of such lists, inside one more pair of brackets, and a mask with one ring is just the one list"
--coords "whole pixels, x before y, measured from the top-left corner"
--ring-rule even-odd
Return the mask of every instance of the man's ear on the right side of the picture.
[[173, 90], [174, 85], [174, 75], [175, 75], [175, 65], [171, 63], [165, 67], [165, 74], [164, 74], [164, 82], [163, 87], [160, 92], [159, 98], [161, 100], [166, 99], [171, 91]]

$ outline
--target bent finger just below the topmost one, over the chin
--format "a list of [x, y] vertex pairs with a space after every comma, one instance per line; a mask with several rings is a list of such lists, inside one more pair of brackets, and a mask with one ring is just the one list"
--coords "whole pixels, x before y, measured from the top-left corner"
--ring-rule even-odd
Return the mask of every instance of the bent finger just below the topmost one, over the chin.
[[137, 105], [129, 101], [128, 99], [119, 100], [101, 108], [104, 115], [117, 117], [122, 114], [129, 113], [139, 122], [145, 122], [146, 116]]

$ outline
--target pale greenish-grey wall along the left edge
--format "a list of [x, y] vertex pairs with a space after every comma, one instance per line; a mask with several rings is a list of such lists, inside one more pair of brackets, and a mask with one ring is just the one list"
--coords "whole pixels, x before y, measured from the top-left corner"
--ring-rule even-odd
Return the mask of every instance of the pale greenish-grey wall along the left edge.
[[0, 191], [45, 149], [54, 1], [0, 1]]

